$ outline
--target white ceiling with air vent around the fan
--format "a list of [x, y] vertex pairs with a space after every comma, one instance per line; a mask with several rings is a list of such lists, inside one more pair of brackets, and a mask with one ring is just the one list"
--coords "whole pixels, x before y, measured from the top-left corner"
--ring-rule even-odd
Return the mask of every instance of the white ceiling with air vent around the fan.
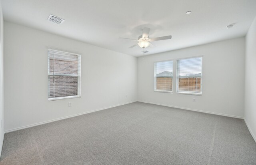
[[[166, 52], [209, 42], [245, 36], [256, 16], [256, 0], [1, 0], [4, 20], [66, 36], [132, 56], [140, 47], [128, 49], [144, 27], [156, 41], [149, 53]], [[192, 13], [186, 15], [185, 12]], [[47, 20], [49, 14], [65, 19]], [[234, 28], [225, 26], [235, 23]], [[147, 55], [145, 54], [145, 55]]]

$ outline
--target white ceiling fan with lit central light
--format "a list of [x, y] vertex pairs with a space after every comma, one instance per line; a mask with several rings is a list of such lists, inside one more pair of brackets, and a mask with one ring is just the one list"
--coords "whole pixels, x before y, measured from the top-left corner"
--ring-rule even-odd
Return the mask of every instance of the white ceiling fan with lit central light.
[[[121, 39], [138, 41], [137, 44], [134, 44], [133, 46], [130, 46], [129, 48], [133, 48], [137, 45], [140, 46], [140, 48], [147, 48], [151, 44], [150, 42], [152, 42], [152, 41], [169, 40], [172, 38], [172, 36], [149, 38], [149, 36], [148, 36], [149, 32], [150, 32], [150, 28], [143, 28], [142, 35], [138, 37], [138, 40], [130, 39], [130, 38], [121, 38]], [[151, 45], [153, 45], [153, 44], [151, 44]]]

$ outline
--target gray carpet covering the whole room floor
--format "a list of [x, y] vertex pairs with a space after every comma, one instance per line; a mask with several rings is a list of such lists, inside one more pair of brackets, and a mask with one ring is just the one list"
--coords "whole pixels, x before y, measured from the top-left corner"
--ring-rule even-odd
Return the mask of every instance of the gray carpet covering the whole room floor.
[[0, 165], [256, 165], [243, 119], [130, 103], [6, 133]]

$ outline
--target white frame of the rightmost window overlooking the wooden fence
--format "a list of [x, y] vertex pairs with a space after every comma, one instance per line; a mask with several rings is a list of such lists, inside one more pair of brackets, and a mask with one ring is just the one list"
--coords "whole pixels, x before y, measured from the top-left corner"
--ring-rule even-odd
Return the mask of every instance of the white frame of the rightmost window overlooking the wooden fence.
[[[179, 76], [178, 75], [178, 60], [189, 59], [189, 58], [201, 58], [201, 76]], [[196, 93], [193, 91], [178, 91], [179, 87], [179, 78], [180, 77], [194, 77], [194, 78], [201, 78], [200, 80], [200, 89], [201, 93]], [[186, 95], [202, 95], [203, 94], [203, 56], [192, 56], [186, 58], [177, 58], [176, 59], [176, 93], [177, 94], [186, 94]]]

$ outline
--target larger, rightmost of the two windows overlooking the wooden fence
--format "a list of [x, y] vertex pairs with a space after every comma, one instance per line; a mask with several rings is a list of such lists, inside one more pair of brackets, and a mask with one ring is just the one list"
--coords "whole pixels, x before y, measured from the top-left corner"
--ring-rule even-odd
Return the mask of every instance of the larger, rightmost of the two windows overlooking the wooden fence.
[[202, 57], [177, 60], [176, 92], [202, 95]]

